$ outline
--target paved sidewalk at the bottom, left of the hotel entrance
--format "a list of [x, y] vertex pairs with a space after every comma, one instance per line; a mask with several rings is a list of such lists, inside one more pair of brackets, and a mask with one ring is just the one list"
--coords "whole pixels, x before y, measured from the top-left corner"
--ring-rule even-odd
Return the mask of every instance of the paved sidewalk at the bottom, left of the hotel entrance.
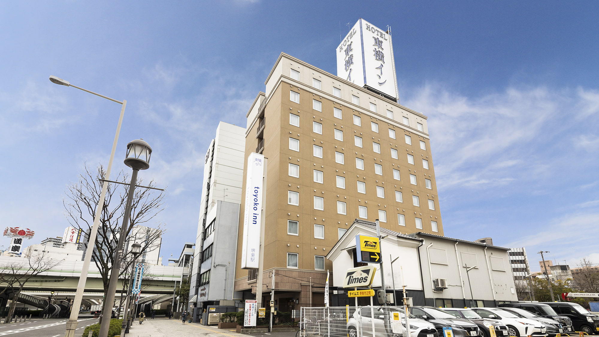
[[213, 326], [204, 326], [199, 323], [181, 323], [181, 320], [168, 318], [145, 319], [143, 324], [138, 320], [132, 324], [126, 337], [248, 337], [235, 332], [234, 329], [218, 329]]

